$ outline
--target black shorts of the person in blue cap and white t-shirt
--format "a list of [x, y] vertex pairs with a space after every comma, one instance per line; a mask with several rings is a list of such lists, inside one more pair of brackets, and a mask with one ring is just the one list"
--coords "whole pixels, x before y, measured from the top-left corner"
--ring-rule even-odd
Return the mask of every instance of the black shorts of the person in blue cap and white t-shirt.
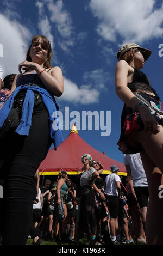
[[119, 208], [120, 208], [119, 199], [117, 198], [117, 196], [108, 196], [108, 198], [109, 198], [108, 210], [110, 213], [110, 217], [117, 218]]

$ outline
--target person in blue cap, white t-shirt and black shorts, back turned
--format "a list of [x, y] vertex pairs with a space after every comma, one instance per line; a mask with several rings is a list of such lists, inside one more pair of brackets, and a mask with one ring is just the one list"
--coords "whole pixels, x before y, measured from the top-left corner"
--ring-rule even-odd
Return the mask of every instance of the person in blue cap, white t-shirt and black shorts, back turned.
[[105, 191], [109, 197], [110, 233], [112, 242], [116, 242], [117, 217], [119, 212], [119, 199], [121, 198], [121, 180], [117, 175], [119, 168], [114, 164], [110, 167], [111, 174], [105, 178]]

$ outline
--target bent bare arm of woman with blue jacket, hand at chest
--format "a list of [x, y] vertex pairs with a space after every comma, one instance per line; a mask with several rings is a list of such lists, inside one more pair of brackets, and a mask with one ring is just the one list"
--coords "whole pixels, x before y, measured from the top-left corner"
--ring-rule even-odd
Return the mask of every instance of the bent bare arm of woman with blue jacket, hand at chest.
[[[42, 80], [43, 84], [45, 84], [46, 88], [55, 96], [60, 97], [64, 92], [64, 77], [62, 75], [62, 71], [59, 66], [55, 66], [49, 72], [43, 71], [45, 70], [42, 66], [35, 62], [28, 62], [25, 60], [24, 62], [18, 65], [18, 70], [21, 73], [21, 69], [24, 67], [28, 70], [35, 70]], [[43, 72], [42, 72], [43, 71]], [[41, 73], [40, 73], [41, 72]]]

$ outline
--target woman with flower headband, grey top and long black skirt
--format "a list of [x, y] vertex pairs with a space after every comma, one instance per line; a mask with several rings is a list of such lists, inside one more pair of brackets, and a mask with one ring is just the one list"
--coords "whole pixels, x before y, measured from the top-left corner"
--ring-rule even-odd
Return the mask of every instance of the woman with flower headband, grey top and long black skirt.
[[80, 186], [82, 190], [80, 203], [80, 230], [86, 232], [90, 236], [90, 245], [95, 244], [95, 237], [97, 231], [96, 216], [95, 216], [95, 196], [92, 185], [98, 177], [98, 172], [91, 167], [92, 157], [89, 154], [82, 156], [83, 170], [80, 178]]

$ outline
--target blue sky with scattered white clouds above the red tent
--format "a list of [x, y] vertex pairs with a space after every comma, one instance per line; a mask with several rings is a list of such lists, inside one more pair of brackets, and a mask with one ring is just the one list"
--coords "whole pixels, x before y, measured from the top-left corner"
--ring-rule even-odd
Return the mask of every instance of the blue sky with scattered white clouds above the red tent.
[[[69, 107], [81, 116], [82, 111], [104, 111], [105, 122], [106, 111], [111, 111], [109, 136], [101, 136], [95, 127], [78, 132], [93, 148], [123, 162], [117, 147], [123, 103], [114, 87], [116, 53], [128, 42], [150, 48], [152, 55], [142, 71], [163, 100], [162, 22], [159, 0], [2, 0], [0, 65], [4, 76], [17, 74], [33, 35], [46, 35], [53, 46], [53, 66], [60, 66], [65, 78], [65, 92], [57, 98], [60, 110]], [[64, 139], [69, 132], [63, 131]]]

